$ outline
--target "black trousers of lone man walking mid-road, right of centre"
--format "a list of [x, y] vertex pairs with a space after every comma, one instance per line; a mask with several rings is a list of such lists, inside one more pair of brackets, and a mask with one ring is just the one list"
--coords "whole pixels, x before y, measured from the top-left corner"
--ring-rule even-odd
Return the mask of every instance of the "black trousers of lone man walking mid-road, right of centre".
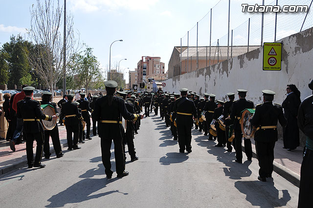
[[191, 150], [191, 123], [184, 121], [177, 122], [179, 151]]

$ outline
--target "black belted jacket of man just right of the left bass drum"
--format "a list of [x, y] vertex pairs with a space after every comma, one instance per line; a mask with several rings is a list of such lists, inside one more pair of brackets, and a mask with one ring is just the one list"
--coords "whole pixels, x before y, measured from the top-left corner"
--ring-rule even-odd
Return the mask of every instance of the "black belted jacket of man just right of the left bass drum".
[[61, 117], [65, 117], [65, 125], [77, 126], [77, 128], [80, 119], [82, 119], [82, 115], [78, 112], [77, 105], [75, 103], [72, 103], [71, 101], [67, 101], [66, 103], [62, 104]]

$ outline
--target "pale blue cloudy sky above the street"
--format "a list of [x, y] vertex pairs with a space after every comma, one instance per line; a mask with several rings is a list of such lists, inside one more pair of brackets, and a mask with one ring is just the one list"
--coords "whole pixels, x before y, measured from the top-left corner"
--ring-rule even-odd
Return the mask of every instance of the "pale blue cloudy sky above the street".
[[[262, 3], [262, 0], [259, 1]], [[61, 0], [60, 4], [63, 5], [63, 2], [64, 0]], [[67, 12], [74, 17], [74, 28], [79, 31], [80, 40], [93, 48], [93, 53], [103, 69], [109, 65], [111, 43], [123, 39], [123, 42], [112, 45], [111, 52], [112, 62], [127, 58], [120, 62], [120, 70], [134, 70], [141, 56], [159, 56], [167, 71], [173, 47], [180, 46], [180, 38], [182, 45], [187, 45], [187, 31], [217, 2], [219, 0], [67, 0]], [[241, 12], [243, 1], [231, 2], [231, 27], [245, 25], [252, 14]], [[266, 0], [266, 4], [270, 2], [272, 0]], [[11, 35], [21, 33], [24, 36], [25, 28], [30, 27], [29, 7], [33, 3], [36, 4], [36, 0], [0, 0], [0, 46], [9, 42]], [[221, 0], [215, 7], [215, 13], [212, 12], [212, 46], [216, 45], [216, 40], [221, 37], [224, 42], [220, 45], [227, 45], [227, 6], [228, 0]], [[199, 23], [199, 46], [209, 45], [209, 16]], [[271, 22], [272, 18], [271, 14]], [[254, 16], [254, 19], [253, 23], [259, 28], [259, 17]], [[237, 30], [241, 32], [240, 27]], [[282, 34], [285, 34], [286, 30], [282, 29]], [[287, 33], [290, 30], [287, 30]], [[256, 31], [255, 36], [258, 34]], [[242, 36], [245, 35], [246, 32], [234, 34], [234, 41], [236, 38], [243, 40]], [[196, 27], [190, 31], [189, 38], [189, 46], [195, 46]], [[127, 73], [125, 79], [128, 82]]]

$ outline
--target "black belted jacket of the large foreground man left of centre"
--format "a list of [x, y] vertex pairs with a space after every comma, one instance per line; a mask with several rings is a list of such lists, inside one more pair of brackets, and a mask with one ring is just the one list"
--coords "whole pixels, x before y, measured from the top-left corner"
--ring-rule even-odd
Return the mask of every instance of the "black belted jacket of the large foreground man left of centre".
[[[112, 104], [109, 106], [109, 95], [105, 95], [97, 99], [94, 111], [92, 112], [92, 117], [96, 120], [100, 120], [100, 138], [114, 138], [122, 137], [124, 128], [120, 123], [122, 121], [122, 116], [125, 120], [137, 120], [140, 119], [139, 114], [131, 114], [127, 111], [125, 102], [122, 98], [113, 96]], [[119, 123], [105, 123], [105, 122]]]

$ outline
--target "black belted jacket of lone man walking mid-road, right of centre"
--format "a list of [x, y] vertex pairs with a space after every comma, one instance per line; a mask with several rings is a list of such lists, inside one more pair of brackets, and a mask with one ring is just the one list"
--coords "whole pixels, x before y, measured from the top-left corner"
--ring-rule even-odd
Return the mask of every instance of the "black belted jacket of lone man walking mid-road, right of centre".
[[[187, 97], [181, 97], [175, 101], [173, 112], [173, 120], [177, 118], [177, 121], [185, 121], [190, 123], [191, 125], [193, 122], [192, 116], [194, 116], [195, 118], [198, 117], [194, 101], [188, 99]], [[182, 115], [179, 113], [191, 115]]]

